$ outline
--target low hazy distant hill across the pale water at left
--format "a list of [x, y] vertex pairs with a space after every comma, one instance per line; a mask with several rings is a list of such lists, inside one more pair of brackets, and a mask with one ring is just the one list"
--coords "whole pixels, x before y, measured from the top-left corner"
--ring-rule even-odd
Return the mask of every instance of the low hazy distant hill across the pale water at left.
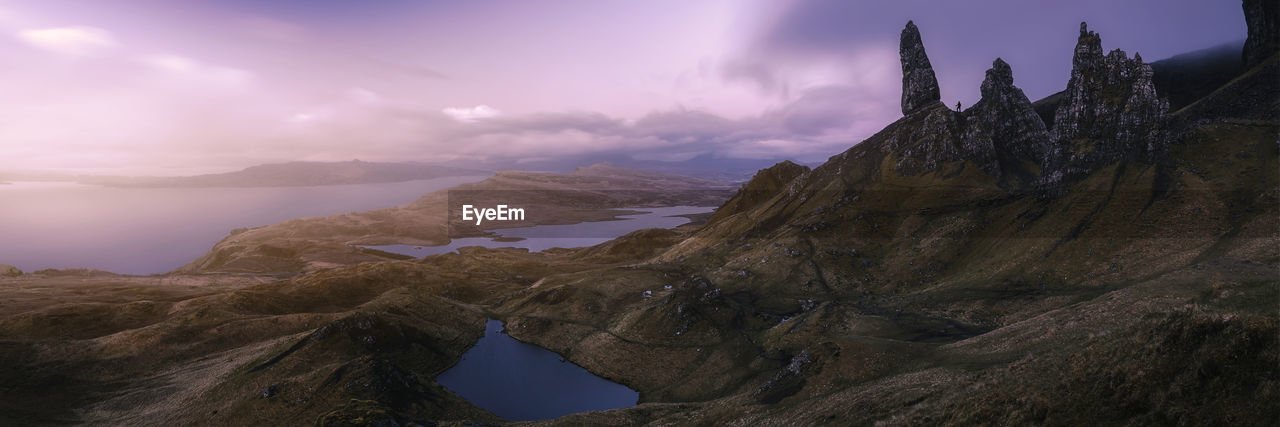
[[398, 183], [488, 171], [416, 162], [293, 161], [195, 176], [82, 176], [81, 183], [108, 187], [301, 187]]

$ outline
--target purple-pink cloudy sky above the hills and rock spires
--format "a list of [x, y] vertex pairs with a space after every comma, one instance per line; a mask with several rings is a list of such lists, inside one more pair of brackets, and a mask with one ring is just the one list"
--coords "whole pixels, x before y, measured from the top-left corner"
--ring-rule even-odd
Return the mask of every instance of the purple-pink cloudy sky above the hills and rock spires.
[[947, 105], [996, 58], [1061, 91], [1082, 20], [1148, 61], [1245, 37], [1225, 0], [0, 0], [0, 171], [820, 161], [901, 116], [908, 19]]

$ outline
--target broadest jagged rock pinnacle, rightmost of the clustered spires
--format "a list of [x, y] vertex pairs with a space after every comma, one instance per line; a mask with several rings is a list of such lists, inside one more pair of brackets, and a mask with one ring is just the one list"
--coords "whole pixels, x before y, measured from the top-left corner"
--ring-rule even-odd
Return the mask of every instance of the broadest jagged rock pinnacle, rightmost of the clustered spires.
[[1151, 65], [1116, 49], [1080, 23], [1071, 79], [1053, 115], [1052, 148], [1042, 182], [1056, 185], [1120, 159], [1149, 161], [1165, 148], [1169, 102], [1156, 95]]

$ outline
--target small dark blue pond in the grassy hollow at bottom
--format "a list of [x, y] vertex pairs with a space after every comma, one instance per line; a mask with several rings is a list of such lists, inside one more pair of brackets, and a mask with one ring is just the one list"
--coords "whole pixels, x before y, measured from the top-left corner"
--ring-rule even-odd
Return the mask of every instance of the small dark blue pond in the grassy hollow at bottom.
[[640, 394], [561, 359], [548, 349], [507, 336], [489, 320], [485, 335], [436, 382], [508, 421], [635, 405]]

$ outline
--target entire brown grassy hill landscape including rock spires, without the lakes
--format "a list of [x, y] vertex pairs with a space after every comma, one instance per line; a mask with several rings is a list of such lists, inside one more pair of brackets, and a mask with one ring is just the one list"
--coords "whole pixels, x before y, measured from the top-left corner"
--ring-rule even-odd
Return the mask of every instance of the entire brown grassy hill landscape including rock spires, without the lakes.
[[1051, 109], [995, 59], [950, 110], [909, 24], [900, 120], [758, 171], [703, 225], [536, 253], [347, 247], [448, 238], [470, 190], [607, 219], [732, 188], [503, 171], [237, 230], [165, 276], [3, 279], [0, 423], [498, 423], [435, 378], [499, 318], [640, 392], [544, 424], [1272, 424], [1280, 55], [1258, 59], [1277, 28], [1260, 3], [1247, 69], [1176, 110], [1084, 24]]

